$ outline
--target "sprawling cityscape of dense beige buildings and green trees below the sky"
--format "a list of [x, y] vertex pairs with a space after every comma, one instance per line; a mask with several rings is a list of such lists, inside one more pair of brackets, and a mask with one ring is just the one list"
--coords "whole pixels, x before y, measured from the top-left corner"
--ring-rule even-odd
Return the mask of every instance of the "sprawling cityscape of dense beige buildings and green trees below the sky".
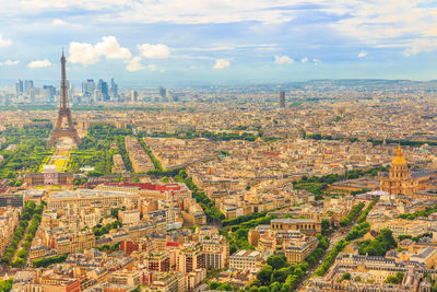
[[0, 276], [14, 291], [436, 285], [433, 82], [307, 82], [277, 101], [274, 86], [96, 80], [44, 86], [71, 101], [79, 143], [46, 147], [56, 108], [0, 112]]

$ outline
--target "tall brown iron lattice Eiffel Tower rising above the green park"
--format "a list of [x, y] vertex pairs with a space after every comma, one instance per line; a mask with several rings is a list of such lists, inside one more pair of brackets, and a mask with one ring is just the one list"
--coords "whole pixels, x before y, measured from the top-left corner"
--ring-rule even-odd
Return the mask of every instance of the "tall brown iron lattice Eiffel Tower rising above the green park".
[[[71, 138], [76, 145], [81, 143], [81, 139], [78, 136], [78, 131], [74, 129], [73, 119], [71, 118], [71, 110], [68, 105], [68, 96], [67, 96], [67, 75], [66, 75], [66, 56], [61, 57], [62, 65], [62, 81], [61, 81], [61, 98], [60, 106], [58, 112], [58, 120], [56, 121], [56, 126], [54, 132], [51, 133], [50, 140], [47, 143], [47, 147], [51, 148], [56, 142], [59, 141], [59, 138], [69, 137]], [[62, 128], [62, 120], [67, 118], [68, 128]]]

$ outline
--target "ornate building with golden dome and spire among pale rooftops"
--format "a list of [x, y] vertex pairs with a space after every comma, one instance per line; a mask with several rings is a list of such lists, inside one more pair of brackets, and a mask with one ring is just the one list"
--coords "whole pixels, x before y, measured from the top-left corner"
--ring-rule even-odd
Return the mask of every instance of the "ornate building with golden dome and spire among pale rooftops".
[[429, 175], [411, 175], [406, 160], [402, 156], [401, 145], [398, 147], [397, 156], [391, 162], [389, 175], [380, 180], [381, 190], [390, 195], [413, 195], [429, 187]]

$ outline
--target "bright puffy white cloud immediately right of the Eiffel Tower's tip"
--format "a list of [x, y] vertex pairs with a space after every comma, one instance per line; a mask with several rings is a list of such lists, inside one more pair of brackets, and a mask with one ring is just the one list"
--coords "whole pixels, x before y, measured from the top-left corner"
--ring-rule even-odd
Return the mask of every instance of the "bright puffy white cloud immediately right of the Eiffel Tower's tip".
[[95, 63], [101, 57], [107, 59], [128, 59], [132, 57], [129, 49], [121, 47], [115, 36], [104, 36], [96, 45], [71, 42], [69, 61], [72, 63]]

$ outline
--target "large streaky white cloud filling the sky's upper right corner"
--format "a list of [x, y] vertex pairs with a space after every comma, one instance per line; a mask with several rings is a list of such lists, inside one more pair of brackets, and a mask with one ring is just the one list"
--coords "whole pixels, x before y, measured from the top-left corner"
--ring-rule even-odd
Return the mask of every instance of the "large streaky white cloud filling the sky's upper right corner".
[[353, 15], [332, 27], [373, 47], [403, 49], [405, 56], [437, 49], [437, 9], [428, 0], [341, 0], [324, 11]]

